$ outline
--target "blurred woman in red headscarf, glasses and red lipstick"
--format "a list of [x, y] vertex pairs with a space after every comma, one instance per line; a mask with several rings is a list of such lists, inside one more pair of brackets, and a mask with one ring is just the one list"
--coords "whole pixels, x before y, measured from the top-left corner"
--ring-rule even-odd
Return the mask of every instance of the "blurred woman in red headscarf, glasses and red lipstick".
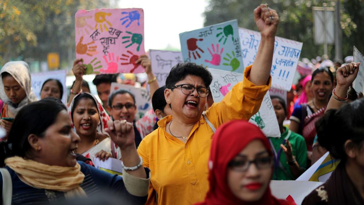
[[213, 136], [209, 160], [210, 189], [196, 205], [289, 205], [272, 196], [273, 158], [261, 130], [244, 120], [223, 124]]

